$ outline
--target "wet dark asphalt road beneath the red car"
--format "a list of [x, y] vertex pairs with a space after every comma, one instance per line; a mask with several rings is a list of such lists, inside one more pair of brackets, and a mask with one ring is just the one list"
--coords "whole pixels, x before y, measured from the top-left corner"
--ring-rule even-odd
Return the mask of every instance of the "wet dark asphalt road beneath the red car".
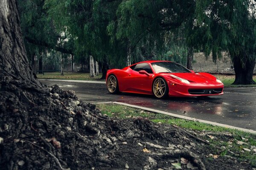
[[206, 98], [155, 99], [150, 95], [108, 93], [105, 84], [41, 81], [73, 90], [87, 103], [123, 102], [196, 119], [256, 130], [256, 88], [224, 88], [224, 95]]

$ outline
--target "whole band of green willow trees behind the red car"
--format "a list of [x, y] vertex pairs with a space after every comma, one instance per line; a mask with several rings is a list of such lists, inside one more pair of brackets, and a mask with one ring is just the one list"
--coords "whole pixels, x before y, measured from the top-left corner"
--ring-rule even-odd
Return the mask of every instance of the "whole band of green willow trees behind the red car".
[[[255, 84], [255, 0], [18, 0], [26, 51], [46, 51], [109, 68], [148, 59], [192, 69], [193, 53], [228, 52], [236, 79]], [[67, 56], [66, 55], [66, 56]], [[65, 57], [65, 55], [63, 55]]]

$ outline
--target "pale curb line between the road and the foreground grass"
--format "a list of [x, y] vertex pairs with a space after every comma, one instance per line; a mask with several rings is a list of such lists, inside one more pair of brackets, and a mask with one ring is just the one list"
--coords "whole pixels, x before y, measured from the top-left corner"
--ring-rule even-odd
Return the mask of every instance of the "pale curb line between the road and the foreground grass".
[[216, 123], [216, 122], [210, 122], [210, 121], [207, 121], [207, 120], [196, 119], [196, 118], [182, 116], [182, 115], [169, 113], [169, 112], [165, 112], [165, 111], [159, 111], [159, 110], [156, 110], [156, 109], [145, 108], [145, 107], [141, 107], [141, 106], [137, 106], [137, 105], [130, 105], [130, 104], [127, 104], [127, 103], [122, 103], [122, 102], [97, 102], [97, 103], [93, 103], [93, 104], [101, 104], [101, 103], [102, 104], [115, 103], [115, 104], [118, 104], [118, 105], [125, 105], [125, 106], [129, 106], [129, 107], [132, 107], [132, 108], [138, 108], [138, 109], [142, 109], [142, 110], [145, 110], [145, 111], [151, 111], [151, 112], [154, 112], [154, 113], [162, 113], [162, 114], [177, 117], [177, 118], [180, 118], [180, 119], [192, 120], [192, 121], [196, 121], [196, 122], [207, 123], [207, 124], [210, 124], [210, 125], [227, 127], [227, 128], [230, 128], [230, 129], [237, 129], [237, 130], [241, 130], [241, 131], [244, 131], [244, 132], [249, 132], [249, 133], [256, 134], [256, 131], [251, 130], [251, 129], [244, 129], [244, 128], [241, 128], [241, 127], [235, 127], [235, 126], [225, 125], [225, 124]]

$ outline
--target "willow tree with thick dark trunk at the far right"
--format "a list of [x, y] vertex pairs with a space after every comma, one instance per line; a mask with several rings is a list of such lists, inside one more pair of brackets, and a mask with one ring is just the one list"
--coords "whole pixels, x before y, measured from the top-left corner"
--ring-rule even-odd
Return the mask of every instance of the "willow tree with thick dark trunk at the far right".
[[[252, 0], [198, 0], [192, 35], [213, 60], [228, 51], [236, 73], [234, 85], [256, 84], [256, 2]], [[195, 42], [195, 38], [190, 40]], [[194, 39], [194, 40], [193, 40]]]

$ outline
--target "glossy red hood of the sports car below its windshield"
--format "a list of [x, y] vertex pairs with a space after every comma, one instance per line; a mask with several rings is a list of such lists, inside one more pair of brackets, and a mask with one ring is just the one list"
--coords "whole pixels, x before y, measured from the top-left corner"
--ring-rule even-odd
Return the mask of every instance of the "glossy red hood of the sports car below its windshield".
[[210, 77], [203, 76], [198, 73], [172, 73], [173, 75], [180, 77], [182, 79], [186, 79], [190, 82], [197, 82], [197, 83], [214, 83], [216, 82], [216, 78], [212, 79]]

